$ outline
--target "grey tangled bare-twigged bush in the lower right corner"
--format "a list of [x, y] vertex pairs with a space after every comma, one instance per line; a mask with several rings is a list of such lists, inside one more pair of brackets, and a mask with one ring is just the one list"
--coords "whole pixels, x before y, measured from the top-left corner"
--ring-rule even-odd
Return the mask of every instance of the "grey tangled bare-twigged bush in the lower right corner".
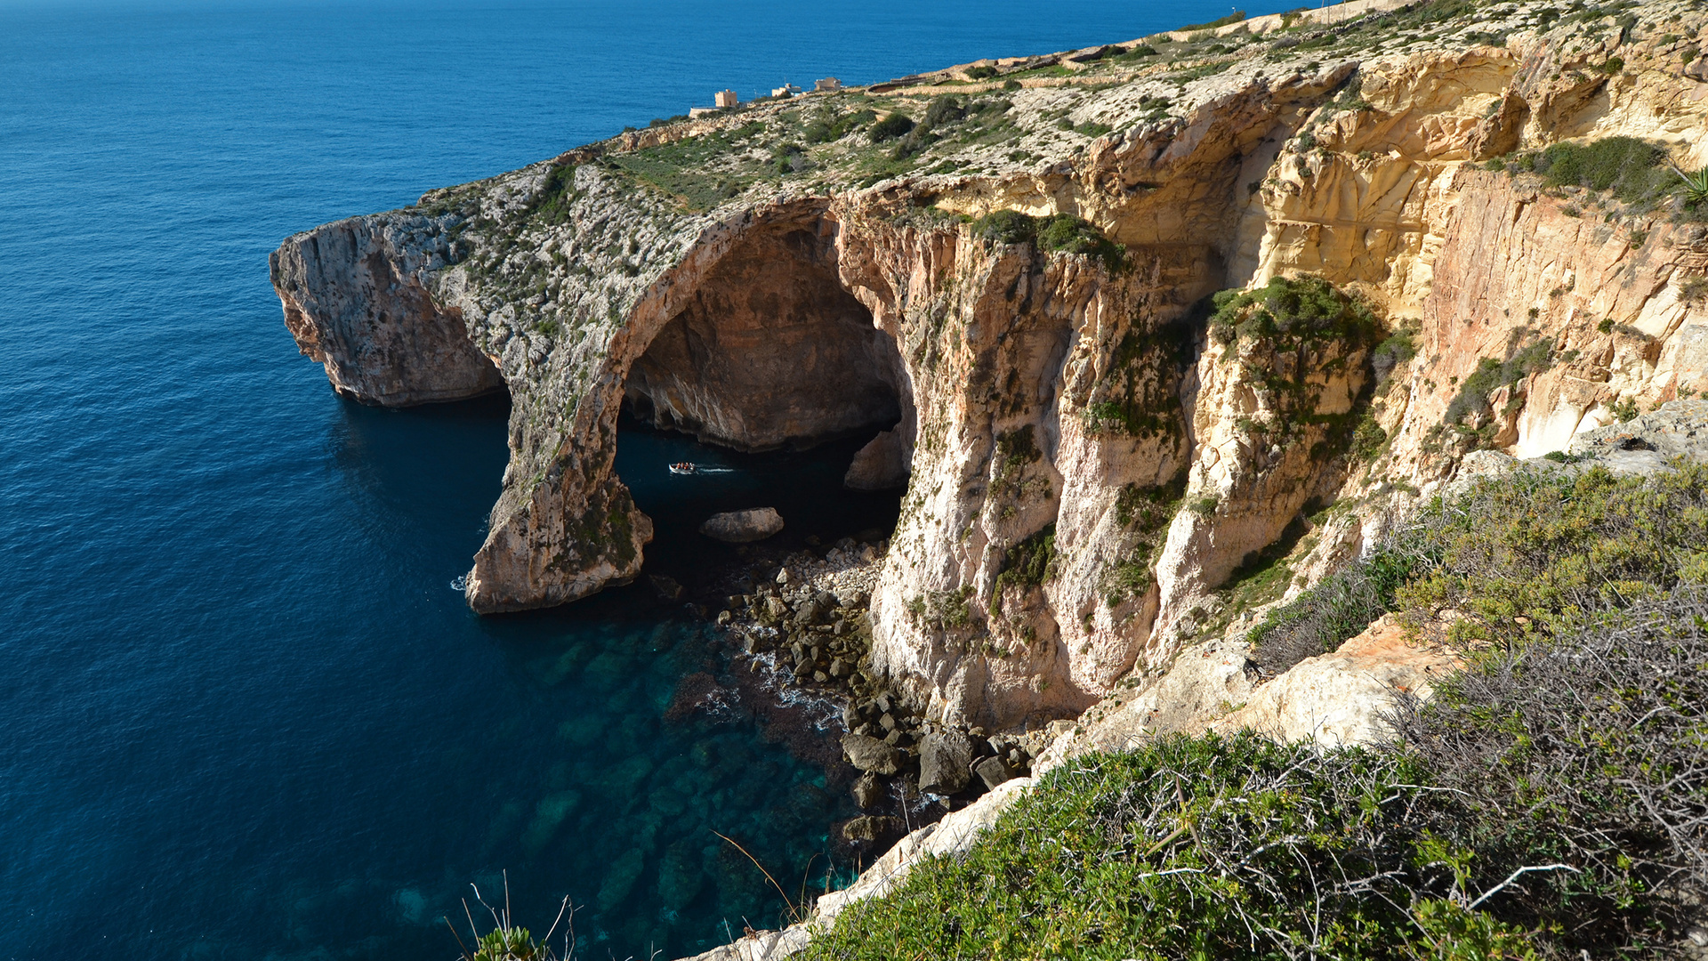
[[[1554, 954], [1677, 940], [1708, 896], [1708, 598], [1681, 590], [1496, 650], [1397, 718], [1465, 799], [1460, 843], [1566, 865], [1494, 901]], [[1658, 944], [1657, 944], [1658, 942]]]

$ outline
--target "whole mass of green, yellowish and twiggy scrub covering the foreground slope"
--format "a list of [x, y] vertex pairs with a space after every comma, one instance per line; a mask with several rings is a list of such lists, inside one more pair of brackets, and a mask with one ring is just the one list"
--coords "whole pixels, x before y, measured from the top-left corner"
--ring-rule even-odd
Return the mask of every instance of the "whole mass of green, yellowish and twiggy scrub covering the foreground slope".
[[1069, 761], [811, 958], [1578, 958], [1708, 894], [1708, 467], [1512, 472], [1259, 628], [1266, 667], [1385, 610], [1467, 670], [1382, 749], [1170, 737]]

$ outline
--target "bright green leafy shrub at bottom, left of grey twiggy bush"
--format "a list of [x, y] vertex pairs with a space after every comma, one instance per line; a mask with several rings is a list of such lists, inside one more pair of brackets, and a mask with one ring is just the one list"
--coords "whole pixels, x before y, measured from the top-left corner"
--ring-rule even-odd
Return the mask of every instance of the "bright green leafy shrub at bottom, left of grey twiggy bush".
[[1431, 864], [1454, 797], [1426, 783], [1404, 756], [1250, 734], [1079, 758], [803, 958], [1532, 958]]

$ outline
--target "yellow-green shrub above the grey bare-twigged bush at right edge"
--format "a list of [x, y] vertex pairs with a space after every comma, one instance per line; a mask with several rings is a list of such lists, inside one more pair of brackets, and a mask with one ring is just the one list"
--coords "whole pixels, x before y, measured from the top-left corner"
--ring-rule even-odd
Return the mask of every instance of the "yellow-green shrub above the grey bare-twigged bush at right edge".
[[1436, 498], [1252, 631], [1271, 674], [1334, 650], [1389, 610], [1459, 617], [1459, 641], [1517, 643], [1708, 583], [1708, 465], [1653, 477], [1520, 469]]

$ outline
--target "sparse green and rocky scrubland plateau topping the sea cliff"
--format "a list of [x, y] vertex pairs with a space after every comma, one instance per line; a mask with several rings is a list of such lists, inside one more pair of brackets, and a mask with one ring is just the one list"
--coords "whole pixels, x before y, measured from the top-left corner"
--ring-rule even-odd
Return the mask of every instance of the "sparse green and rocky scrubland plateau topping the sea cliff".
[[[1346, 22], [1300, 10], [1206, 24], [1079, 51], [982, 60], [888, 84], [758, 99], [707, 120], [654, 120], [581, 156], [600, 156], [688, 210], [745, 197], [864, 188], [897, 176], [1047, 173], [1103, 135], [1184, 118], [1192, 108], [1267, 77], [1315, 74], [1370, 56], [1503, 46], [1535, 34], [1583, 48], [1582, 70], [1636, 68], [1599, 48], [1647, 27], [1686, 62], [1698, 48], [1679, 27], [1640, 22], [1633, 0], [1594, 5], [1428, 0]], [[1324, 17], [1332, 21], [1334, 17]], [[1616, 44], [1617, 46], [1617, 44]], [[1360, 104], [1356, 85], [1342, 106]]]

